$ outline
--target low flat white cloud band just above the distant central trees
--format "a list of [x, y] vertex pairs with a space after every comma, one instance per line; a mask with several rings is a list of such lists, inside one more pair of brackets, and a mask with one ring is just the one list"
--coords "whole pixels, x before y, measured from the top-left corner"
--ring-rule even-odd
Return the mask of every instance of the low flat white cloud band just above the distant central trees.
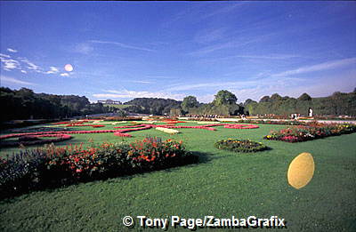
[[106, 98], [106, 99], [126, 99], [126, 98], [162, 98], [162, 99], [174, 99], [174, 100], [182, 100], [185, 95], [181, 93], [170, 93], [170, 92], [136, 92], [136, 91], [115, 91], [108, 90], [105, 92], [111, 93], [96, 93], [93, 94], [95, 98]]

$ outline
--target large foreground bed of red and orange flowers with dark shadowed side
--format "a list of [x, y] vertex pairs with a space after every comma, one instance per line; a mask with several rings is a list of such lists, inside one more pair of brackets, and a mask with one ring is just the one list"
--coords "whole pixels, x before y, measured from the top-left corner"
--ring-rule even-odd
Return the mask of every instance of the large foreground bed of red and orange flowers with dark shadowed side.
[[32, 189], [103, 180], [197, 162], [182, 141], [146, 138], [82, 148], [54, 145], [0, 157], [0, 198]]

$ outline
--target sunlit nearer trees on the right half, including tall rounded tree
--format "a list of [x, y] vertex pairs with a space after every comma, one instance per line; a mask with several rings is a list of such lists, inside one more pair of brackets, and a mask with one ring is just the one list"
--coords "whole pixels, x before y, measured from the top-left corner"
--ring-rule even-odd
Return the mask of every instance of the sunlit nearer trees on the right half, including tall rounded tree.
[[210, 103], [199, 103], [194, 96], [185, 97], [180, 108], [171, 109], [171, 115], [308, 115], [312, 108], [319, 116], [356, 116], [356, 88], [353, 92], [334, 92], [331, 96], [312, 98], [303, 93], [298, 98], [282, 97], [278, 93], [264, 96], [259, 102], [247, 99], [237, 103], [238, 98], [232, 92], [222, 90], [214, 95]]

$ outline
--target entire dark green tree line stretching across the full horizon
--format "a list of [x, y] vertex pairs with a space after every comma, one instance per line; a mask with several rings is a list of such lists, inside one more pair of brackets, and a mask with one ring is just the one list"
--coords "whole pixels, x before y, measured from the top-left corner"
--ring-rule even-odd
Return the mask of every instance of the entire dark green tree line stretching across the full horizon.
[[[182, 115], [284, 115], [301, 114], [306, 116], [308, 108], [314, 115], [321, 116], [356, 116], [356, 88], [353, 92], [334, 92], [324, 98], [312, 98], [303, 93], [299, 98], [282, 97], [278, 93], [264, 96], [258, 102], [247, 99], [237, 103], [238, 98], [232, 92], [221, 90], [214, 95], [210, 103], [198, 102], [195, 96], [181, 100], [158, 98], [135, 98], [125, 102], [130, 107], [125, 112], [142, 113], [158, 116]], [[105, 107], [101, 103], [90, 103], [85, 97], [75, 95], [55, 95], [35, 93], [30, 89], [11, 90], [0, 87], [0, 103], [4, 109], [1, 121], [29, 118], [58, 118], [85, 116], [117, 112], [117, 108]], [[119, 110], [125, 115], [123, 110]]]

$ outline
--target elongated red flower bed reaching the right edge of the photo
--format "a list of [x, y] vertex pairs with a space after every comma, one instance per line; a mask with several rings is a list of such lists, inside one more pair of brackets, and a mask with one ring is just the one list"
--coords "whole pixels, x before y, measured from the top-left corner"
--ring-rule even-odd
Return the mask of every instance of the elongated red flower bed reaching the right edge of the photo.
[[279, 132], [271, 131], [264, 136], [265, 140], [281, 140], [287, 142], [301, 142], [315, 140], [328, 136], [356, 132], [356, 125], [353, 124], [309, 124], [288, 127]]

